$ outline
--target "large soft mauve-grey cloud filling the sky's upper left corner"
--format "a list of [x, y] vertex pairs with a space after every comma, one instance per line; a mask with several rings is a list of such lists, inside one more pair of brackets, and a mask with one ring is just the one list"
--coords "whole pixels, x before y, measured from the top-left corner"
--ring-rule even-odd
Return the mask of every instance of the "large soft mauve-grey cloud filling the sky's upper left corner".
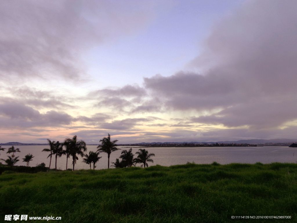
[[153, 7], [138, 1], [1, 1], [0, 76], [86, 76], [80, 55], [139, 29]]

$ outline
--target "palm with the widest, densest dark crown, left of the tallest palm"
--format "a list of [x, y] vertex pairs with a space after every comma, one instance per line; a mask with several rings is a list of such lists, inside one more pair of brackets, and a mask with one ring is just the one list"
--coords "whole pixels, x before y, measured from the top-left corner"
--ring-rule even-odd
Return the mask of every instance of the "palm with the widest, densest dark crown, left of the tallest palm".
[[74, 171], [74, 165], [76, 164], [76, 160], [78, 160], [77, 155], [83, 157], [83, 152], [87, 151], [86, 142], [83, 140], [78, 141], [77, 136], [73, 136], [72, 139], [65, 139], [65, 142], [69, 149], [68, 154], [72, 156], [72, 165]]

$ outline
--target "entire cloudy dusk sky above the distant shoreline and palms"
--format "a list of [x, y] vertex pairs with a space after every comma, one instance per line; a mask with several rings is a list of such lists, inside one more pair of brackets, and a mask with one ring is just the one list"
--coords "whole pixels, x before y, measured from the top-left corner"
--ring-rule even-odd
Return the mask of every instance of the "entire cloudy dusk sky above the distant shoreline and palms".
[[0, 1], [0, 142], [296, 139], [297, 1]]

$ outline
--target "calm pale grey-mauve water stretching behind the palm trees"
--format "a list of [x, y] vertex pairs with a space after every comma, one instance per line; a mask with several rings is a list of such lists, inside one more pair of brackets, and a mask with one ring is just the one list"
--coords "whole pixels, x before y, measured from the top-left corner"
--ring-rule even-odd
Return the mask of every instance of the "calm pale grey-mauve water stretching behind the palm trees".
[[[0, 158], [7, 158], [7, 148], [11, 146], [2, 146], [6, 148], [5, 151], [0, 152]], [[87, 146], [89, 151], [96, 151], [97, 146]], [[42, 149], [48, 148], [47, 146], [15, 146], [20, 149], [20, 153], [16, 153], [19, 156], [19, 162], [17, 165], [26, 165], [22, 162], [22, 158], [26, 154], [33, 154], [33, 161], [30, 162], [30, 166], [34, 167], [37, 164], [44, 162], [47, 167], [50, 163], [50, 158], [47, 158], [47, 152], [42, 152]], [[122, 150], [129, 150], [129, 148], [119, 147]], [[133, 148], [135, 153], [139, 148]], [[146, 148], [149, 153], [155, 153], [153, 157], [154, 163], [151, 165], [171, 166], [176, 164], [186, 164], [187, 162], [195, 162], [197, 164], [210, 164], [214, 161], [220, 164], [228, 163], [250, 163], [256, 162], [271, 163], [271, 162], [286, 162], [296, 163], [297, 161], [297, 148], [289, 147], [277, 147], [277, 146], [264, 146], [264, 147], [152, 147]], [[114, 162], [116, 158], [121, 155], [121, 150], [111, 153], [110, 162]], [[96, 169], [107, 168], [107, 154], [101, 153], [102, 158], [96, 164]], [[3, 163], [3, 161], [1, 161]], [[68, 159], [68, 168], [71, 168], [72, 158]], [[52, 158], [51, 168], [55, 167], [54, 156]], [[66, 169], [66, 156], [58, 157], [57, 160], [58, 169]], [[92, 167], [93, 168], [93, 167]], [[111, 167], [113, 168], [113, 167]], [[75, 169], [89, 169], [89, 165], [82, 162], [82, 158], [79, 157], [76, 162]]]

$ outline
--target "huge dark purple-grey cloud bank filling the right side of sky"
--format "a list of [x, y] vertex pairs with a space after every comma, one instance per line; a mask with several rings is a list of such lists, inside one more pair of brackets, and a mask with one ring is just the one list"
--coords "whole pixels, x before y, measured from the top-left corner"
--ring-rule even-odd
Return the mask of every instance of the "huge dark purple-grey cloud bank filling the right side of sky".
[[265, 129], [296, 120], [296, 7], [248, 1], [214, 26], [191, 62], [200, 73], [144, 78], [146, 89], [167, 109], [211, 111], [193, 122]]

